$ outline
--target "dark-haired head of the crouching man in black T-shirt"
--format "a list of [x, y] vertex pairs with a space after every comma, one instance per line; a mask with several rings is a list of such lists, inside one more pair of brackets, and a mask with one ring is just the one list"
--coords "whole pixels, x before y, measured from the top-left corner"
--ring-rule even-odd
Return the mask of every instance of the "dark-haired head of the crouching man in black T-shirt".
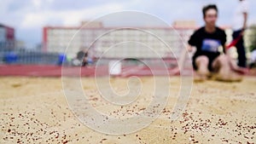
[[210, 4], [202, 9], [203, 18], [208, 26], [215, 26], [218, 18], [218, 8], [215, 4]]

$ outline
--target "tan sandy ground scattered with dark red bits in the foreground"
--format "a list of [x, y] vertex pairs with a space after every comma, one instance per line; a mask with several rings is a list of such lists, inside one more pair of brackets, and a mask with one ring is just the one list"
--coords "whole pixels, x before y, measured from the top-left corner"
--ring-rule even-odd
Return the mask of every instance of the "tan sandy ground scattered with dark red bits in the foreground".
[[[112, 78], [120, 93], [125, 78]], [[82, 78], [84, 93], [98, 111], [113, 117], [132, 116], [147, 107], [154, 79], [142, 78], [141, 98], [131, 106], [103, 101], [93, 78]], [[170, 120], [179, 78], [171, 78], [166, 108], [152, 124], [128, 135], [90, 130], [68, 108], [61, 78], [0, 78], [0, 143], [255, 143], [256, 77], [241, 83], [207, 81], [193, 85], [181, 117]], [[144, 99], [143, 99], [144, 98]], [[117, 110], [119, 109], [119, 110]], [[115, 114], [114, 114], [115, 113]], [[127, 128], [128, 129], [128, 128]]]

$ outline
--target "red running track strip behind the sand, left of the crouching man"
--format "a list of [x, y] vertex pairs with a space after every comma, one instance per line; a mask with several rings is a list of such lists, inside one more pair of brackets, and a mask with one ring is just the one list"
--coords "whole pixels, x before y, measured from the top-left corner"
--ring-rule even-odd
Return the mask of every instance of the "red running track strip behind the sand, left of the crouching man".
[[[155, 68], [155, 75], [166, 75], [163, 68]], [[172, 69], [168, 69], [172, 72]], [[34, 77], [61, 77], [82, 76], [94, 77], [108, 76], [108, 66], [38, 66], [38, 65], [0, 65], [0, 76], [34, 76]], [[176, 73], [169, 73], [174, 75]], [[147, 66], [125, 66], [122, 67], [120, 77], [130, 76], [152, 76], [153, 73]]]

